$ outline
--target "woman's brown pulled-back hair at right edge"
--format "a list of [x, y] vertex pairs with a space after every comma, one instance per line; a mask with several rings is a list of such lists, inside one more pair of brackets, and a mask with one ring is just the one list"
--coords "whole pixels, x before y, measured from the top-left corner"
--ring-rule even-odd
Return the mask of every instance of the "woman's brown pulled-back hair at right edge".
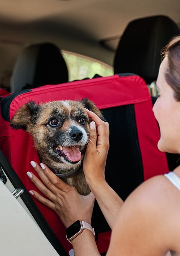
[[180, 101], [180, 36], [171, 39], [163, 55], [168, 58], [165, 79], [174, 90], [174, 98]]

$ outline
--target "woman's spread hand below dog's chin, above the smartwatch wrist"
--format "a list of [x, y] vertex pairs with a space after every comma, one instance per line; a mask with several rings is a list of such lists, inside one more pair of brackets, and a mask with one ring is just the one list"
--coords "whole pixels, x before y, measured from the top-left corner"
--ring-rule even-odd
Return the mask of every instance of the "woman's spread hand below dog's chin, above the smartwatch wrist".
[[30, 190], [29, 193], [54, 210], [64, 226], [68, 227], [76, 220], [83, 220], [91, 224], [95, 200], [92, 192], [86, 196], [80, 195], [74, 187], [64, 183], [46, 165], [41, 164], [41, 168], [34, 161], [31, 164], [42, 182], [31, 172], [27, 172], [27, 175], [48, 199], [34, 190]]

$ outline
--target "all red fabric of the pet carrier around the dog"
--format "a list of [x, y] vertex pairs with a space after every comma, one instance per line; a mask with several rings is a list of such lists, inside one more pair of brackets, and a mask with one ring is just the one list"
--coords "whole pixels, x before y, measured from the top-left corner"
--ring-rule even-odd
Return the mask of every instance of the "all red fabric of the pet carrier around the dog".
[[[134, 104], [144, 177], [147, 179], [150, 176], [167, 171], [166, 156], [156, 149], [159, 130], [152, 113], [149, 91], [146, 83], [139, 76], [119, 77], [118, 75], [114, 75], [60, 85], [42, 86], [33, 89], [32, 92], [17, 96], [11, 102], [10, 119], [13, 117], [16, 110], [29, 100], [38, 103], [39, 101], [47, 102], [62, 99], [81, 100], [85, 97], [94, 101], [100, 109]], [[0, 121], [3, 124], [0, 127], [0, 147], [2, 152], [7, 157], [26, 189], [37, 190], [26, 175], [27, 171], [31, 171], [35, 174], [34, 169], [30, 165], [30, 161], [34, 160], [39, 163], [39, 158], [29, 133], [23, 130], [13, 130], [8, 127], [8, 122]], [[147, 130], [148, 135], [146, 134]], [[68, 252], [72, 247], [65, 238], [65, 227], [60, 222], [58, 216], [37, 200], [35, 200], [35, 202]], [[110, 232], [99, 235], [98, 249], [100, 253], [107, 251], [109, 240]]]

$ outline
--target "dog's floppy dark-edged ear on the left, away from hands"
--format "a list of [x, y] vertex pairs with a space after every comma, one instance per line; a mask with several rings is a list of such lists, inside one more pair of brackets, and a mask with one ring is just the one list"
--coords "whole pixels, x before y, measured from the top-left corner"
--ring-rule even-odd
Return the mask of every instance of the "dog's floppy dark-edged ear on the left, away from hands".
[[35, 124], [40, 105], [35, 101], [29, 101], [21, 108], [19, 108], [13, 118], [10, 120], [10, 126], [13, 129], [23, 129], [26, 131], [27, 126], [33, 126]]

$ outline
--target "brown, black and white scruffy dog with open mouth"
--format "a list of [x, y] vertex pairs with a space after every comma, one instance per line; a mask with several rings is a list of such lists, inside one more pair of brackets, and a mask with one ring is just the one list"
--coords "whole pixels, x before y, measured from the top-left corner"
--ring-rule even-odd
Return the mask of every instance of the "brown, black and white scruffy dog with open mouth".
[[29, 101], [10, 121], [13, 129], [31, 134], [40, 161], [81, 195], [90, 193], [82, 170], [91, 122], [85, 108], [105, 121], [101, 111], [87, 98], [44, 104]]

